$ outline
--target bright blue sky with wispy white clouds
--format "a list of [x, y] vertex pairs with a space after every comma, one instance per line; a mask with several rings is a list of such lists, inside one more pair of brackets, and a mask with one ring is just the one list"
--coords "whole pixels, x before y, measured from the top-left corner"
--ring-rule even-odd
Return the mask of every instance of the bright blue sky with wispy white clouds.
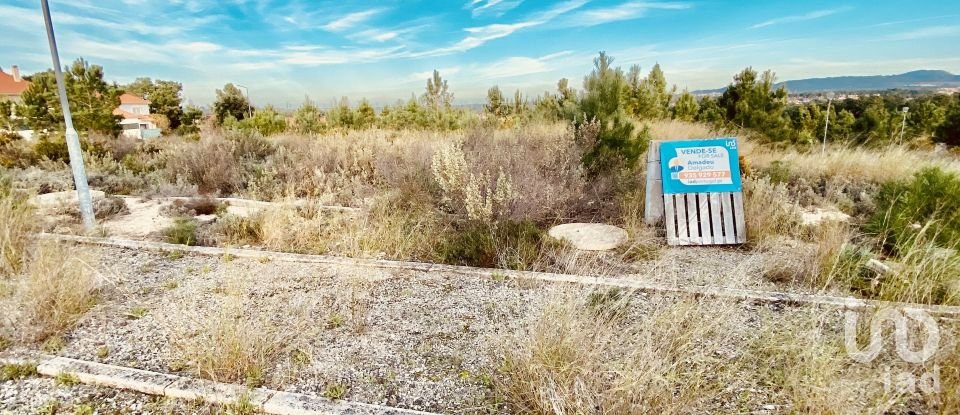
[[[779, 79], [960, 73], [960, 3], [947, 1], [51, 0], [64, 62], [84, 57], [118, 83], [184, 84], [208, 104], [226, 82], [255, 104], [309, 96], [393, 103], [430, 71], [459, 103], [493, 85], [528, 95], [580, 85], [592, 58], [660, 63], [678, 87], [715, 88], [746, 66]], [[50, 67], [39, 1], [0, 0], [0, 66]]]

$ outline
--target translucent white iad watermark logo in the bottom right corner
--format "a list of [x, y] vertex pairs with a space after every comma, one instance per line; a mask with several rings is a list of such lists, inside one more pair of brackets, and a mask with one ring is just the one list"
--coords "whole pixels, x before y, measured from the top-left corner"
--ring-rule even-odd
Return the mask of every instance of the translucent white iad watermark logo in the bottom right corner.
[[[860, 349], [857, 344], [857, 325], [860, 320], [860, 313], [847, 310], [844, 313], [844, 343], [847, 354], [851, 359], [860, 363], [872, 362], [883, 349], [883, 325], [886, 322], [892, 322], [894, 326], [894, 345], [897, 356], [901, 360], [912, 364], [921, 364], [937, 353], [940, 347], [940, 327], [937, 321], [926, 311], [917, 309], [897, 310], [893, 308], [878, 311], [870, 320], [870, 339], [864, 349]], [[919, 350], [911, 348], [910, 339], [910, 321], [915, 321], [918, 327], [922, 327], [922, 333], [925, 336]], [[919, 331], [915, 331], [919, 333]], [[911, 372], [900, 371], [893, 373], [890, 366], [884, 369], [881, 382], [884, 390], [891, 392], [895, 390], [899, 394], [916, 393], [918, 390], [925, 394], [934, 394], [940, 391], [940, 367], [933, 365], [932, 370], [921, 374], [919, 377]]]

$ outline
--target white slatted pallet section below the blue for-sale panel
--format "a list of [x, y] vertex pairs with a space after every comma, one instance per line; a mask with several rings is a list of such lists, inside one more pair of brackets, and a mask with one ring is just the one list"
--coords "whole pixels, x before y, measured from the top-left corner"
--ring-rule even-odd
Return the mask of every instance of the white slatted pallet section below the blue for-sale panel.
[[669, 245], [747, 241], [742, 192], [666, 194], [663, 210]]

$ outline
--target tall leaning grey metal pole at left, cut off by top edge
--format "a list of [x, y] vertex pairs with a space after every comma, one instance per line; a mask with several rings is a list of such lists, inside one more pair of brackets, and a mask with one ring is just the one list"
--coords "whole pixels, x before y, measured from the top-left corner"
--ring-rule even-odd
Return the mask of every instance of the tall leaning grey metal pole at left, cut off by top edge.
[[80, 136], [73, 128], [73, 116], [70, 115], [70, 103], [67, 101], [67, 87], [63, 83], [63, 71], [60, 69], [60, 54], [57, 52], [57, 39], [53, 36], [53, 22], [50, 21], [50, 6], [47, 0], [40, 0], [43, 8], [43, 22], [47, 26], [47, 40], [50, 43], [50, 57], [53, 59], [53, 73], [57, 77], [57, 92], [60, 94], [60, 107], [63, 108], [63, 122], [67, 128], [67, 151], [70, 154], [70, 168], [73, 170], [73, 184], [77, 188], [80, 202], [80, 216], [83, 227], [92, 231], [96, 226], [93, 217], [93, 205], [90, 201], [90, 187], [87, 185], [87, 172], [83, 167], [83, 151], [80, 149]]

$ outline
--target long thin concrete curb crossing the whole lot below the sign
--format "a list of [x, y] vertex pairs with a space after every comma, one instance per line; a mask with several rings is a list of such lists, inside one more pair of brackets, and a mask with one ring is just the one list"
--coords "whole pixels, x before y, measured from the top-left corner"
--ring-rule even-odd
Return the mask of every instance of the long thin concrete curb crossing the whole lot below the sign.
[[692, 286], [681, 287], [660, 283], [650, 283], [626, 278], [597, 277], [589, 275], [573, 274], [552, 274], [546, 272], [533, 271], [512, 271], [495, 268], [476, 268], [460, 265], [430, 264], [423, 262], [409, 261], [390, 261], [382, 259], [358, 259], [347, 257], [336, 257], [329, 255], [305, 255], [291, 254], [286, 252], [260, 251], [255, 249], [239, 248], [217, 248], [208, 246], [186, 246], [177, 244], [168, 244], [164, 242], [152, 241], [133, 241], [127, 239], [98, 238], [90, 236], [60, 235], [50, 233], [40, 233], [36, 235], [39, 239], [54, 240], [61, 242], [74, 242], [87, 245], [109, 246], [115, 248], [141, 249], [151, 251], [183, 251], [199, 255], [222, 256], [230, 254], [239, 258], [269, 258], [270, 260], [313, 263], [313, 264], [331, 264], [359, 266], [370, 268], [385, 269], [404, 269], [412, 271], [442, 271], [456, 274], [478, 275], [491, 277], [494, 274], [499, 276], [508, 276], [512, 278], [524, 278], [545, 282], [597, 285], [606, 287], [619, 287], [628, 290], [635, 290], [654, 294], [681, 294], [692, 295], [695, 297], [716, 297], [729, 298], [735, 300], [756, 301], [761, 303], [782, 303], [791, 305], [819, 305], [836, 307], [847, 310], [869, 310], [878, 308], [901, 308], [906, 310], [920, 310], [932, 315], [942, 317], [960, 317], [960, 306], [944, 305], [925, 305], [914, 303], [899, 303], [892, 301], [864, 300], [853, 297], [837, 297], [831, 295], [786, 293], [776, 291], [747, 290], [740, 288]]

